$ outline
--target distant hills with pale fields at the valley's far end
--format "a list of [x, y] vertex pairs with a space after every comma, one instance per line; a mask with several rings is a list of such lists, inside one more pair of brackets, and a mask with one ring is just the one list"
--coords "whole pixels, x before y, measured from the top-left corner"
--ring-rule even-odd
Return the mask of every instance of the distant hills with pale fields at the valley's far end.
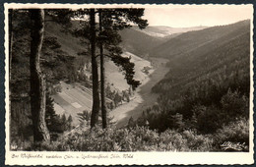
[[203, 29], [206, 27], [195, 28], [170, 28], [170, 27], [138, 27], [126, 28], [120, 31], [122, 36], [122, 47], [138, 56], [148, 55], [153, 48], [166, 42], [168, 39], [178, 36], [183, 32]]

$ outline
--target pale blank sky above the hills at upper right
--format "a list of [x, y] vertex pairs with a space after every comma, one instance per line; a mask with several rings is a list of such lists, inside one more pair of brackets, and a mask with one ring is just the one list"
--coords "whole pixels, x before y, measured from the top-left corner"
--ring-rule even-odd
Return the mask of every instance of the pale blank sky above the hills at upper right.
[[248, 5], [179, 5], [146, 8], [144, 19], [150, 26], [189, 28], [220, 26], [251, 19], [252, 6]]

